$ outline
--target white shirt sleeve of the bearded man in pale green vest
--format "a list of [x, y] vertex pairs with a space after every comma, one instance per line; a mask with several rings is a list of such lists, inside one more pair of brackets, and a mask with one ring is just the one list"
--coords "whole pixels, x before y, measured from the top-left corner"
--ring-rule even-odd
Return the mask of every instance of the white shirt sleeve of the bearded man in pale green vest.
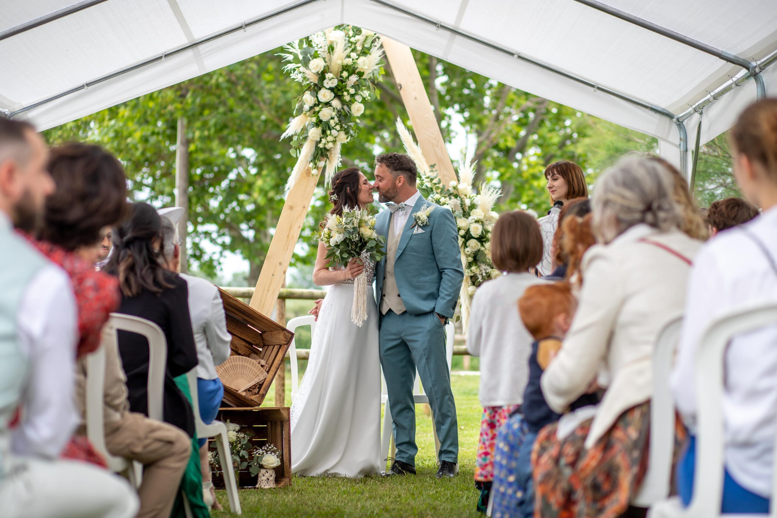
[[53, 264], [41, 269], [22, 296], [16, 321], [30, 374], [11, 449], [24, 457], [56, 458], [78, 423], [73, 400], [78, 326], [67, 273]]

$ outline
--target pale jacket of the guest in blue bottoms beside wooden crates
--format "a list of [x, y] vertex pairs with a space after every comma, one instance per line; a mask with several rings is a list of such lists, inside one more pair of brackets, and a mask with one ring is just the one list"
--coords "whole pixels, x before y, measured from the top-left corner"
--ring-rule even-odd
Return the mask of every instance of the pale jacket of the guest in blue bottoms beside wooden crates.
[[189, 287], [189, 315], [194, 342], [197, 343], [197, 377], [214, 380], [216, 365], [224, 363], [232, 349], [232, 335], [227, 331], [224, 303], [218, 288], [207, 280], [181, 273]]

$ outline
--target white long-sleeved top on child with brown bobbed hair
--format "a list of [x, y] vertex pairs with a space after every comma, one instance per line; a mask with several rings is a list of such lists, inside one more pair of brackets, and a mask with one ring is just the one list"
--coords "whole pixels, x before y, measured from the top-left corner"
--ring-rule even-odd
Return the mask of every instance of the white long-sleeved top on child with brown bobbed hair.
[[483, 283], [472, 297], [467, 352], [480, 356], [480, 404], [520, 405], [529, 377], [532, 338], [518, 314], [518, 299], [532, 284], [531, 273], [508, 273]]

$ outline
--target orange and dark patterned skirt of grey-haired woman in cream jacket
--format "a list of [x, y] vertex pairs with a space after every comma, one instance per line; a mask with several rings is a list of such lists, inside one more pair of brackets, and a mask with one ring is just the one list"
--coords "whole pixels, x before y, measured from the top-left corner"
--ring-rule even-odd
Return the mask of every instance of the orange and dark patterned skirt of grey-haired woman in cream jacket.
[[624, 412], [586, 450], [592, 421], [561, 441], [556, 438], [558, 423], [540, 430], [531, 452], [535, 516], [615, 518], [628, 509], [647, 471], [650, 402]]

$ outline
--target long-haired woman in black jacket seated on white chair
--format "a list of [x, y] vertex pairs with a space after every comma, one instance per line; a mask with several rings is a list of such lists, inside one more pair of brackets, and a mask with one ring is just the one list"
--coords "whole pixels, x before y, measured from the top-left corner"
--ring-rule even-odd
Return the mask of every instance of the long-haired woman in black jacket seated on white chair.
[[[133, 203], [128, 220], [113, 232], [106, 267], [119, 277], [119, 312], [154, 322], [165, 333], [167, 365], [162, 405], [165, 422], [194, 436], [194, 415], [174, 377], [197, 367], [186, 281], [160, 264], [162, 221], [148, 203]], [[119, 353], [127, 374], [130, 410], [148, 415], [148, 340], [119, 332]]]

